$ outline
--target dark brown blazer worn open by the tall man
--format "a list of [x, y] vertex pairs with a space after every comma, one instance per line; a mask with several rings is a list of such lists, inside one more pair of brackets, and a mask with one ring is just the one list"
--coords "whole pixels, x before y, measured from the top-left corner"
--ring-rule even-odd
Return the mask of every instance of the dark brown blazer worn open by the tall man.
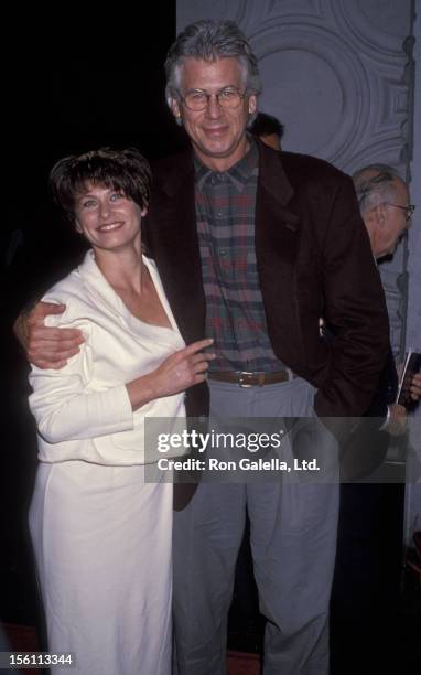
[[[388, 351], [384, 291], [352, 180], [322, 160], [259, 142], [256, 255], [274, 354], [315, 387], [319, 416], [360, 416]], [[144, 238], [186, 343], [204, 338], [205, 297], [191, 151], [161, 160]], [[326, 344], [319, 318], [334, 338]], [[206, 385], [187, 413], [207, 414]]]

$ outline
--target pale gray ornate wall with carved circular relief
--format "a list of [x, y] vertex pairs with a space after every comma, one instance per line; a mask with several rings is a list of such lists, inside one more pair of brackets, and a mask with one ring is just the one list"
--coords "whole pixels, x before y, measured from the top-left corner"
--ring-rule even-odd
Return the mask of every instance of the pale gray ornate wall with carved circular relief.
[[[234, 19], [260, 61], [260, 109], [285, 126], [285, 150], [352, 173], [411, 156], [411, 0], [179, 0], [177, 28]], [[381, 265], [393, 351], [404, 346], [406, 244]]]

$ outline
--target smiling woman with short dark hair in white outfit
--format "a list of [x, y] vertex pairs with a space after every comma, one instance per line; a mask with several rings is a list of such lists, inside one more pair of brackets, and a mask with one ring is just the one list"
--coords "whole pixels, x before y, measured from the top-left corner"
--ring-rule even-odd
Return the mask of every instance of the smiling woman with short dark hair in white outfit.
[[51, 186], [91, 248], [44, 298], [65, 306], [50, 325], [83, 331], [80, 351], [30, 375], [30, 527], [48, 649], [72, 652], [73, 673], [169, 675], [172, 484], [144, 480], [144, 418], [184, 416], [212, 341], [184, 345], [142, 255], [150, 169], [137, 150], [65, 158]]

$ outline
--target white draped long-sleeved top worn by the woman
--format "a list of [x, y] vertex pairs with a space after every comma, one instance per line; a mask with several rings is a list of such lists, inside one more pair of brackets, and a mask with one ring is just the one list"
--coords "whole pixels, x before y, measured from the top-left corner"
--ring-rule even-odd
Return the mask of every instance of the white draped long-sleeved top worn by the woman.
[[[144, 452], [144, 418], [184, 418], [182, 393], [133, 413], [125, 386], [185, 346], [155, 265], [145, 257], [143, 261], [172, 329], [133, 317], [99, 270], [91, 250], [44, 296], [45, 301], [66, 304], [65, 312], [47, 317], [46, 324], [78, 328], [85, 343], [60, 371], [32, 367], [30, 407], [39, 428], [40, 460], [117, 465], [155, 461], [155, 448]], [[163, 427], [166, 432], [170, 428], [171, 422]], [[179, 449], [176, 453], [182, 452]]]

